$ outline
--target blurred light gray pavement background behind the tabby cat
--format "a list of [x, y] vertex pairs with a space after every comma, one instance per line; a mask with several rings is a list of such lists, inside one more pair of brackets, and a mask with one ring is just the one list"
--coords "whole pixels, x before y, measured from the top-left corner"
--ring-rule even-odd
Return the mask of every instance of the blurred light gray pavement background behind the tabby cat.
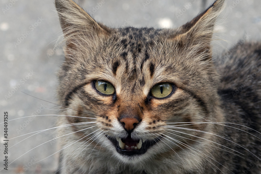
[[[111, 27], [168, 28], [178, 27], [193, 19], [213, 1], [76, 2], [94, 19]], [[261, 40], [260, 11], [259, 0], [227, 1], [227, 7], [216, 25], [218, 32], [213, 41], [214, 58], [240, 39]], [[46, 101], [58, 103], [56, 72], [62, 64], [63, 52], [57, 43], [61, 36], [54, 0], [0, 0], [0, 123], [4, 121], [4, 112], [8, 112], [10, 164], [8, 171], [1, 170], [4, 160], [3, 140], [6, 139], [4, 126], [0, 124], [0, 173], [55, 173], [58, 164], [58, 153], [55, 152], [58, 147], [57, 139], [52, 140], [55, 138], [55, 129], [50, 128], [55, 127], [58, 116], [54, 115], [58, 107]], [[44, 129], [50, 130], [33, 133]]]

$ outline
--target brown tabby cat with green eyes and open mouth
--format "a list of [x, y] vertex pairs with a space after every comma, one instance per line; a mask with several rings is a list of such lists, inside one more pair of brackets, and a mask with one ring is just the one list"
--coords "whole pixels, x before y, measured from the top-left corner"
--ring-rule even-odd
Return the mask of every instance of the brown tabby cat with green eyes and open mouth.
[[261, 43], [212, 59], [216, 0], [176, 29], [110, 28], [55, 0], [57, 173], [261, 173]]

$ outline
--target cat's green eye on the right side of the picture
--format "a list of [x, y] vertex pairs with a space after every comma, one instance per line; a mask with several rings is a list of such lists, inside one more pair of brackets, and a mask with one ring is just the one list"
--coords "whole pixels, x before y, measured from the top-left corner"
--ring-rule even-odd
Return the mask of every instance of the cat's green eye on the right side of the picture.
[[151, 89], [151, 94], [153, 97], [163, 98], [167, 97], [172, 92], [172, 90], [173, 85], [170, 83], [160, 83]]

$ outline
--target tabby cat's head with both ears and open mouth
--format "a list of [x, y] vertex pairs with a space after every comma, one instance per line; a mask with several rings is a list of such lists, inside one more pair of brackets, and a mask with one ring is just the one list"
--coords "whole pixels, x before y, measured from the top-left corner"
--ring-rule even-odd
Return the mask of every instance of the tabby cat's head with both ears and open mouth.
[[79, 139], [99, 132], [90, 146], [135, 163], [175, 154], [210, 136], [200, 131], [216, 130], [197, 123], [222, 119], [210, 42], [224, 0], [176, 29], [110, 28], [71, 0], [55, 4], [66, 43], [58, 96], [76, 116], [69, 124], [94, 125], [74, 125]]

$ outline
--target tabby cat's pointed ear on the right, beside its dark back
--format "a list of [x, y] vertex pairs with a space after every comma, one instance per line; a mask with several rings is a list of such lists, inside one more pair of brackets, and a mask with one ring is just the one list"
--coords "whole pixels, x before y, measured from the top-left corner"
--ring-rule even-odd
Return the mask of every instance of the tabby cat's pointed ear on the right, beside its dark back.
[[[177, 35], [176, 39], [182, 40], [182, 45], [185, 44], [186, 46], [193, 48], [195, 52], [210, 52], [210, 42], [214, 33], [215, 21], [223, 10], [224, 3], [225, 0], [216, 0], [204, 12], [181, 26], [181, 32]], [[208, 59], [207, 57], [206, 59]]]

